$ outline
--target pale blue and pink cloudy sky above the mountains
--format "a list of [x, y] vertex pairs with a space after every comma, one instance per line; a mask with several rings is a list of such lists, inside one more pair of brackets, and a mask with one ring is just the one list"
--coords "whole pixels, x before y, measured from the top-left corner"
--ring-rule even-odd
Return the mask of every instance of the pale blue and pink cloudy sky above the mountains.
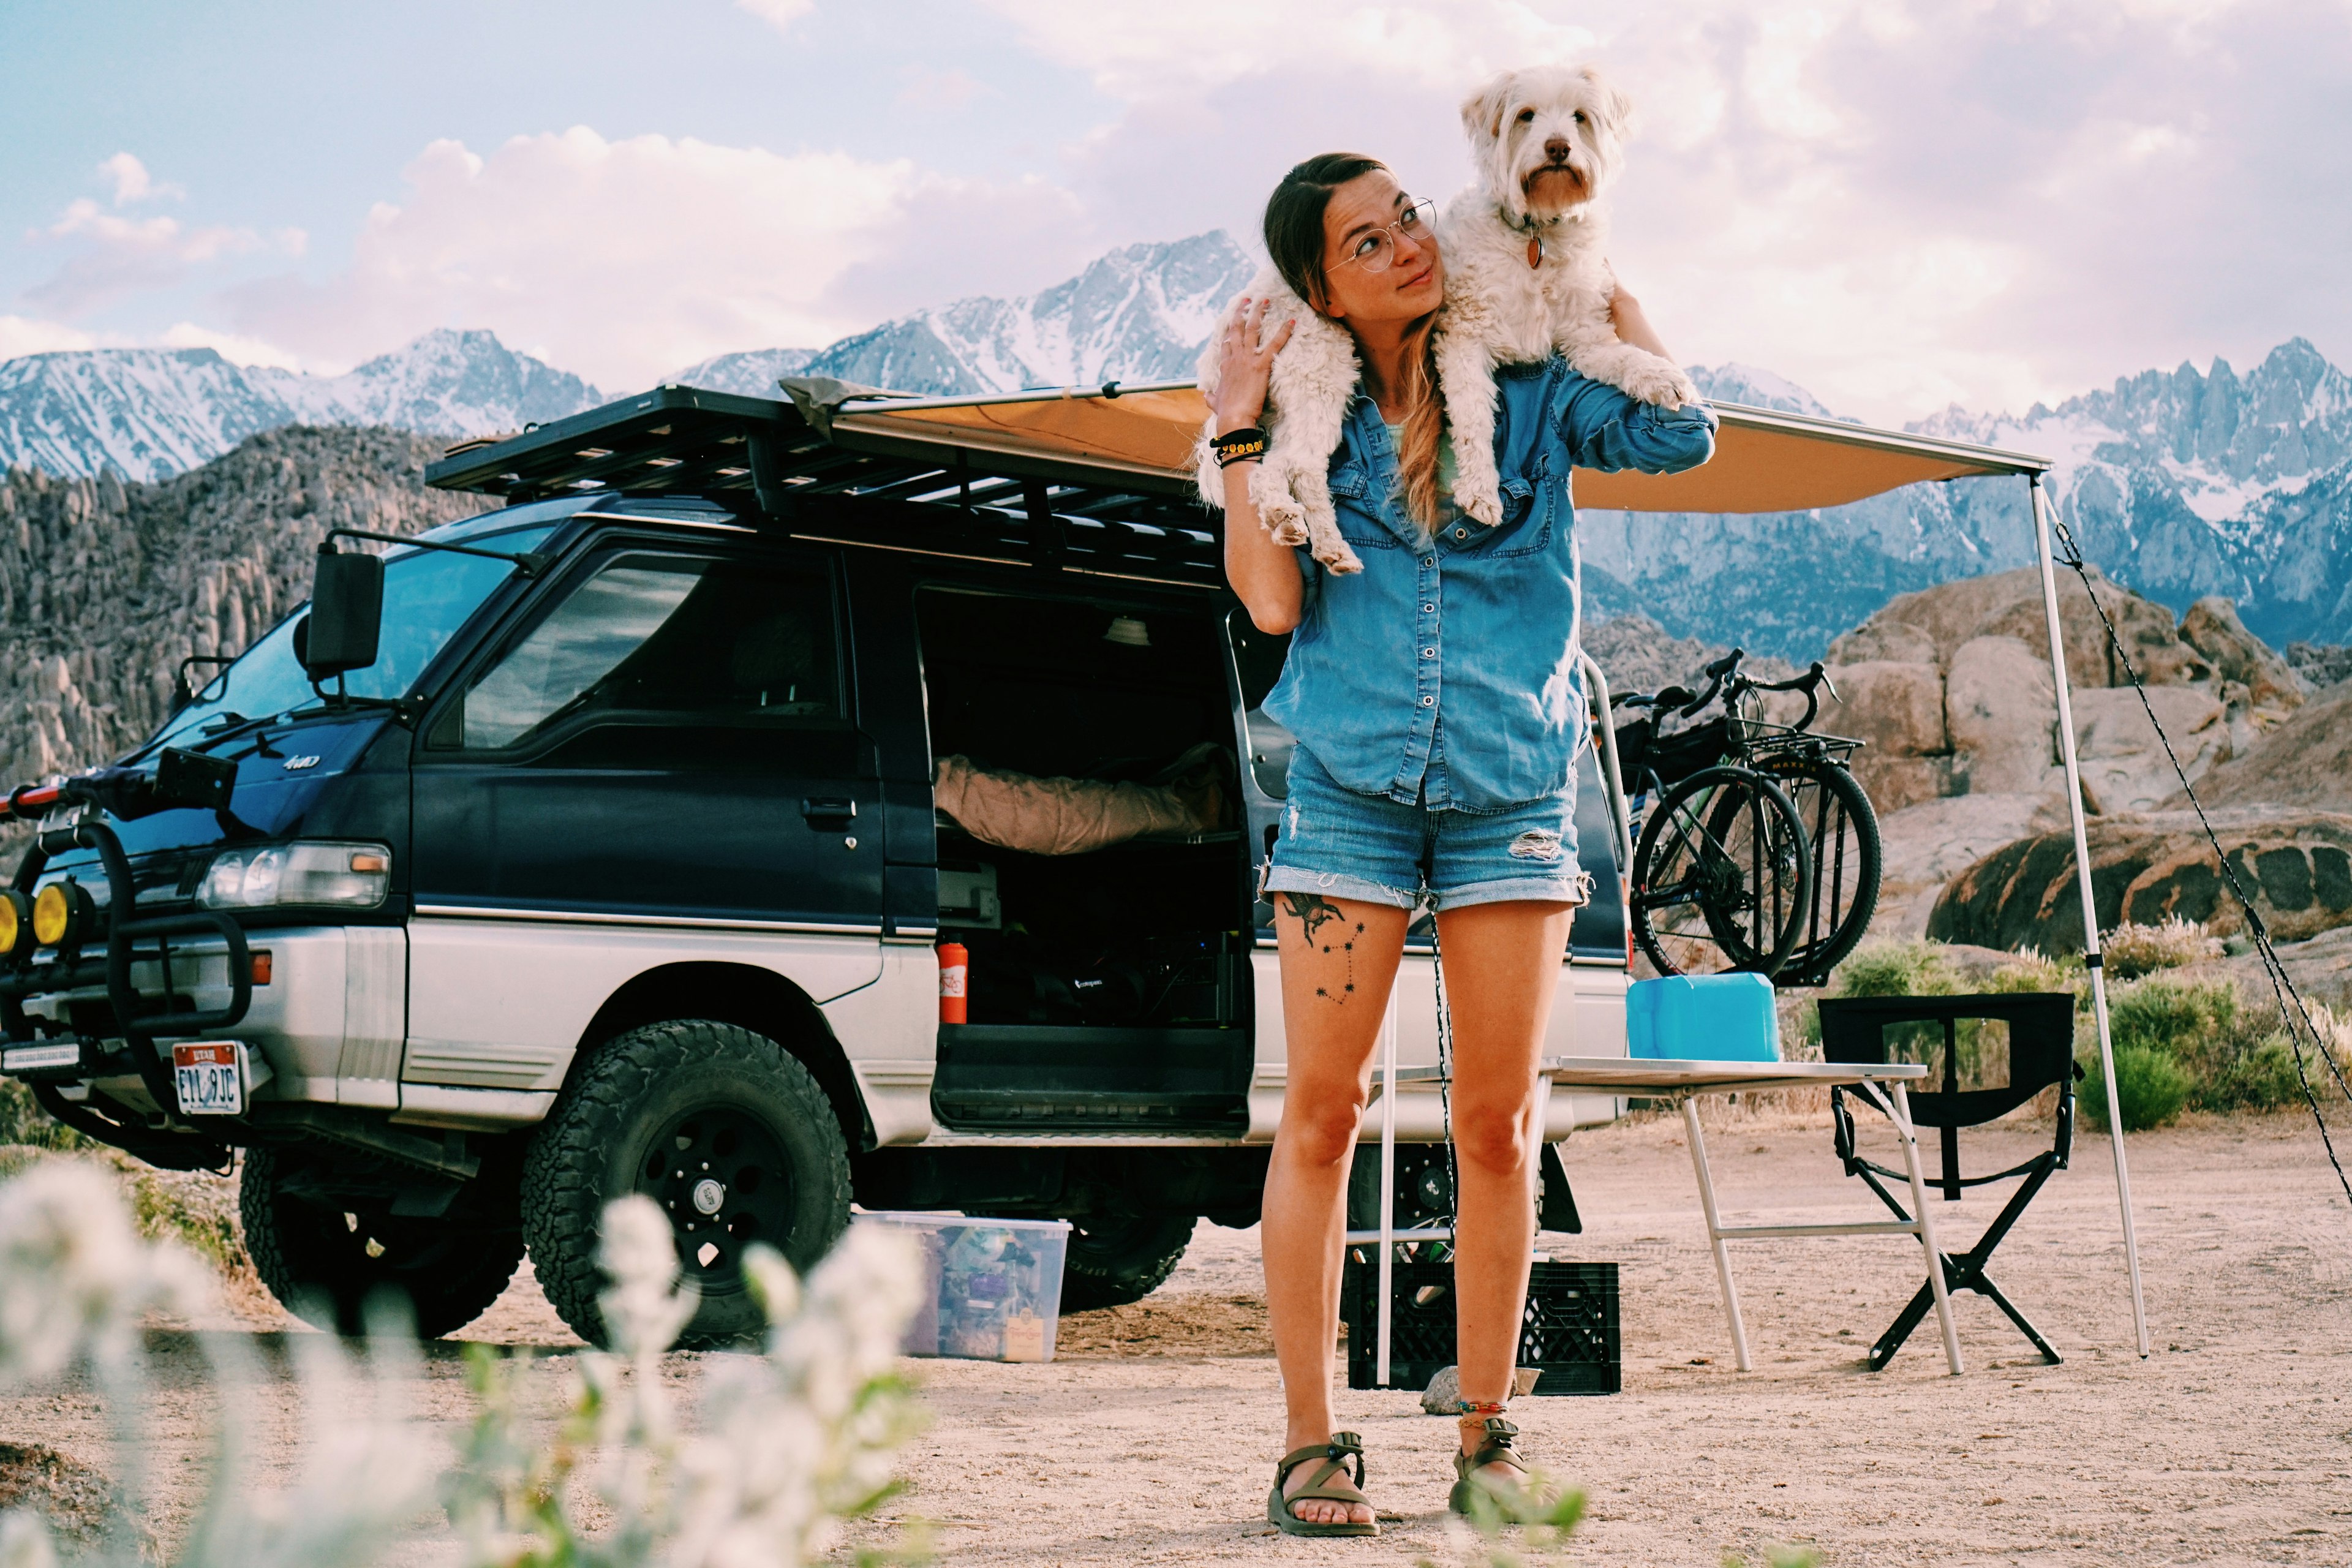
[[2352, 0], [0, 2], [0, 360], [343, 369], [433, 327], [626, 390], [1115, 244], [1597, 59], [1613, 256], [1691, 362], [1842, 411], [2352, 362]]

